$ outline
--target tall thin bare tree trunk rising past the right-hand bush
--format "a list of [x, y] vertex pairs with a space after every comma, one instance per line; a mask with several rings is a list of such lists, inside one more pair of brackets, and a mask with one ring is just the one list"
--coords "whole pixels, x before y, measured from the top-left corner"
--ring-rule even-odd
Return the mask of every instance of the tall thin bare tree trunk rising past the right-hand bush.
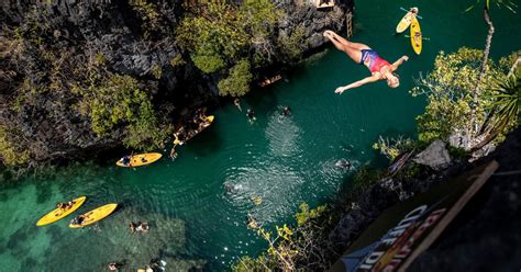
[[488, 35], [485, 42], [485, 50], [483, 52], [481, 71], [479, 72], [479, 77], [473, 92], [473, 105], [470, 106], [470, 129], [468, 129], [469, 147], [473, 145], [474, 135], [477, 131], [476, 106], [478, 104], [478, 97], [480, 92], [479, 84], [481, 83], [483, 77], [485, 76], [485, 72], [487, 71], [488, 55], [490, 54], [490, 45], [492, 44], [494, 24], [492, 24], [492, 21], [490, 21], [487, 7], [483, 9], [483, 19], [485, 20], [485, 23], [487, 23], [488, 25]]

